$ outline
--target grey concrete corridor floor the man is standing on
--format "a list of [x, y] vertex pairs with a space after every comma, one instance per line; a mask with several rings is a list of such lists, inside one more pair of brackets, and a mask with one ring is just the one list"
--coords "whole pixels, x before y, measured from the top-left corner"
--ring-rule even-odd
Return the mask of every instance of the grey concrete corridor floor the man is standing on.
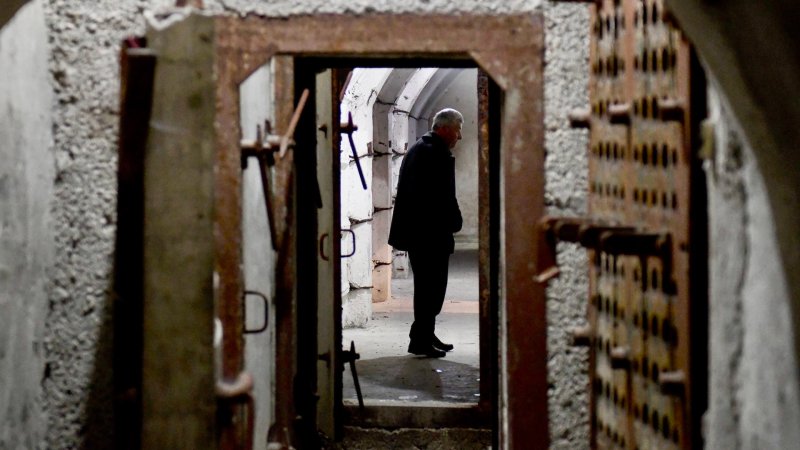
[[[413, 279], [392, 280], [392, 299], [373, 304], [364, 328], [343, 331], [343, 346], [356, 344], [361, 390], [368, 404], [477, 403], [479, 399], [478, 254], [457, 251], [436, 334], [455, 349], [444, 358], [407, 353], [408, 331], [414, 320]], [[343, 377], [343, 398], [356, 399], [349, 366]]]

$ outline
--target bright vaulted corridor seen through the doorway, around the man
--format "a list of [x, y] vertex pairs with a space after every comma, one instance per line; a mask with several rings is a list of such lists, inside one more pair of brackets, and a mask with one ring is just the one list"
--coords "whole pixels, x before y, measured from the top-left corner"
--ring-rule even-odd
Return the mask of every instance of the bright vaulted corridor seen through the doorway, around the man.
[[[345, 137], [340, 148], [342, 346], [353, 342], [360, 354], [355, 373], [366, 404], [477, 406], [480, 400], [478, 77], [476, 68], [356, 68], [340, 95], [341, 117], [352, 117], [358, 128], [355, 150]], [[407, 353], [414, 275], [407, 252], [392, 249], [388, 236], [400, 164], [443, 108], [464, 116], [463, 139], [452, 150], [464, 224], [454, 235], [437, 323], [438, 336], [455, 348], [431, 359]], [[358, 404], [350, 374], [343, 389], [345, 405]]]

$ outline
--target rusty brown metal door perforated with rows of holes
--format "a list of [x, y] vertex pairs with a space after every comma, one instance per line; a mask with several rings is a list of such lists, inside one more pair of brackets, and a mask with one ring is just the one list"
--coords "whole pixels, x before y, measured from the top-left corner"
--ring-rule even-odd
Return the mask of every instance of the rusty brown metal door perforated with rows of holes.
[[[589, 217], [550, 220], [589, 254], [594, 448], [700, 448], [707, 232], [693, 133], [705, 82], [663, 0], [592, 7]], [[693, 88], [697, 91], [693, 92]], [[692, 114], [690, 114], [690, 112]]]

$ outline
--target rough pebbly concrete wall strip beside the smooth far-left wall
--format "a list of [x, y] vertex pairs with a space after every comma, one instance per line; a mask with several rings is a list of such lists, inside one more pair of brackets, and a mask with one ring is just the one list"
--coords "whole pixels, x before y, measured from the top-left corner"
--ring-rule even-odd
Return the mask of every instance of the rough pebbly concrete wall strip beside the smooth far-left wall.
[[145, 2], [48, 0], [55, 90], [55, 266], [42, 374], [43, 447], [110, 448], [111, 278], [117, 187], [118, 52]]

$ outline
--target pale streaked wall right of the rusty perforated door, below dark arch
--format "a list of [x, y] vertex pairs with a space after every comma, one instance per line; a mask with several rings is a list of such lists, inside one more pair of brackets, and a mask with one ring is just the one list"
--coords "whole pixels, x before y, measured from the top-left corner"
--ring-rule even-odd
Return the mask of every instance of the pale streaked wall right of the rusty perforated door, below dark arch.
[[710, 234], [707, 446], [783, 449], [800, 442], [798, 361], [774, 215], [753, 147], [717, 89], [706, 162]]

